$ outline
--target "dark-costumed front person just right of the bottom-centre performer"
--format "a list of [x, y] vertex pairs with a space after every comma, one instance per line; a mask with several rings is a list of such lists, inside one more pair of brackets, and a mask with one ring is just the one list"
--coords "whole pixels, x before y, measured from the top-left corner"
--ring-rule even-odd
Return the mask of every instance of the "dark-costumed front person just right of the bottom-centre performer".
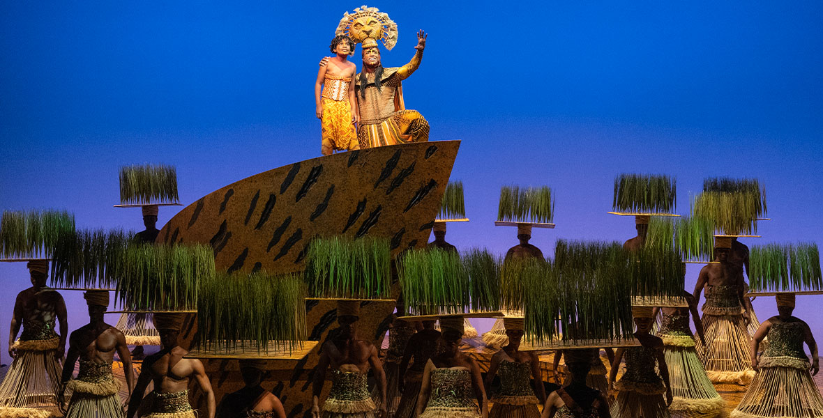
[[[504, 318], [503, 321], [509, 343], [491, 356], [491, 365], [486, 374], [486, 389], [491, 388], [495, 374], [500, 374], [500, 391], [491, 397], [493, 405], [489, 416], [538, 418], [540, 411], [537, 405], [546, 402], [540, 360], [534, 351], [520, 351], [523, 318]], [[533, 388], [537, 388], [537, 396], [532, 388], [532, 379]]]

